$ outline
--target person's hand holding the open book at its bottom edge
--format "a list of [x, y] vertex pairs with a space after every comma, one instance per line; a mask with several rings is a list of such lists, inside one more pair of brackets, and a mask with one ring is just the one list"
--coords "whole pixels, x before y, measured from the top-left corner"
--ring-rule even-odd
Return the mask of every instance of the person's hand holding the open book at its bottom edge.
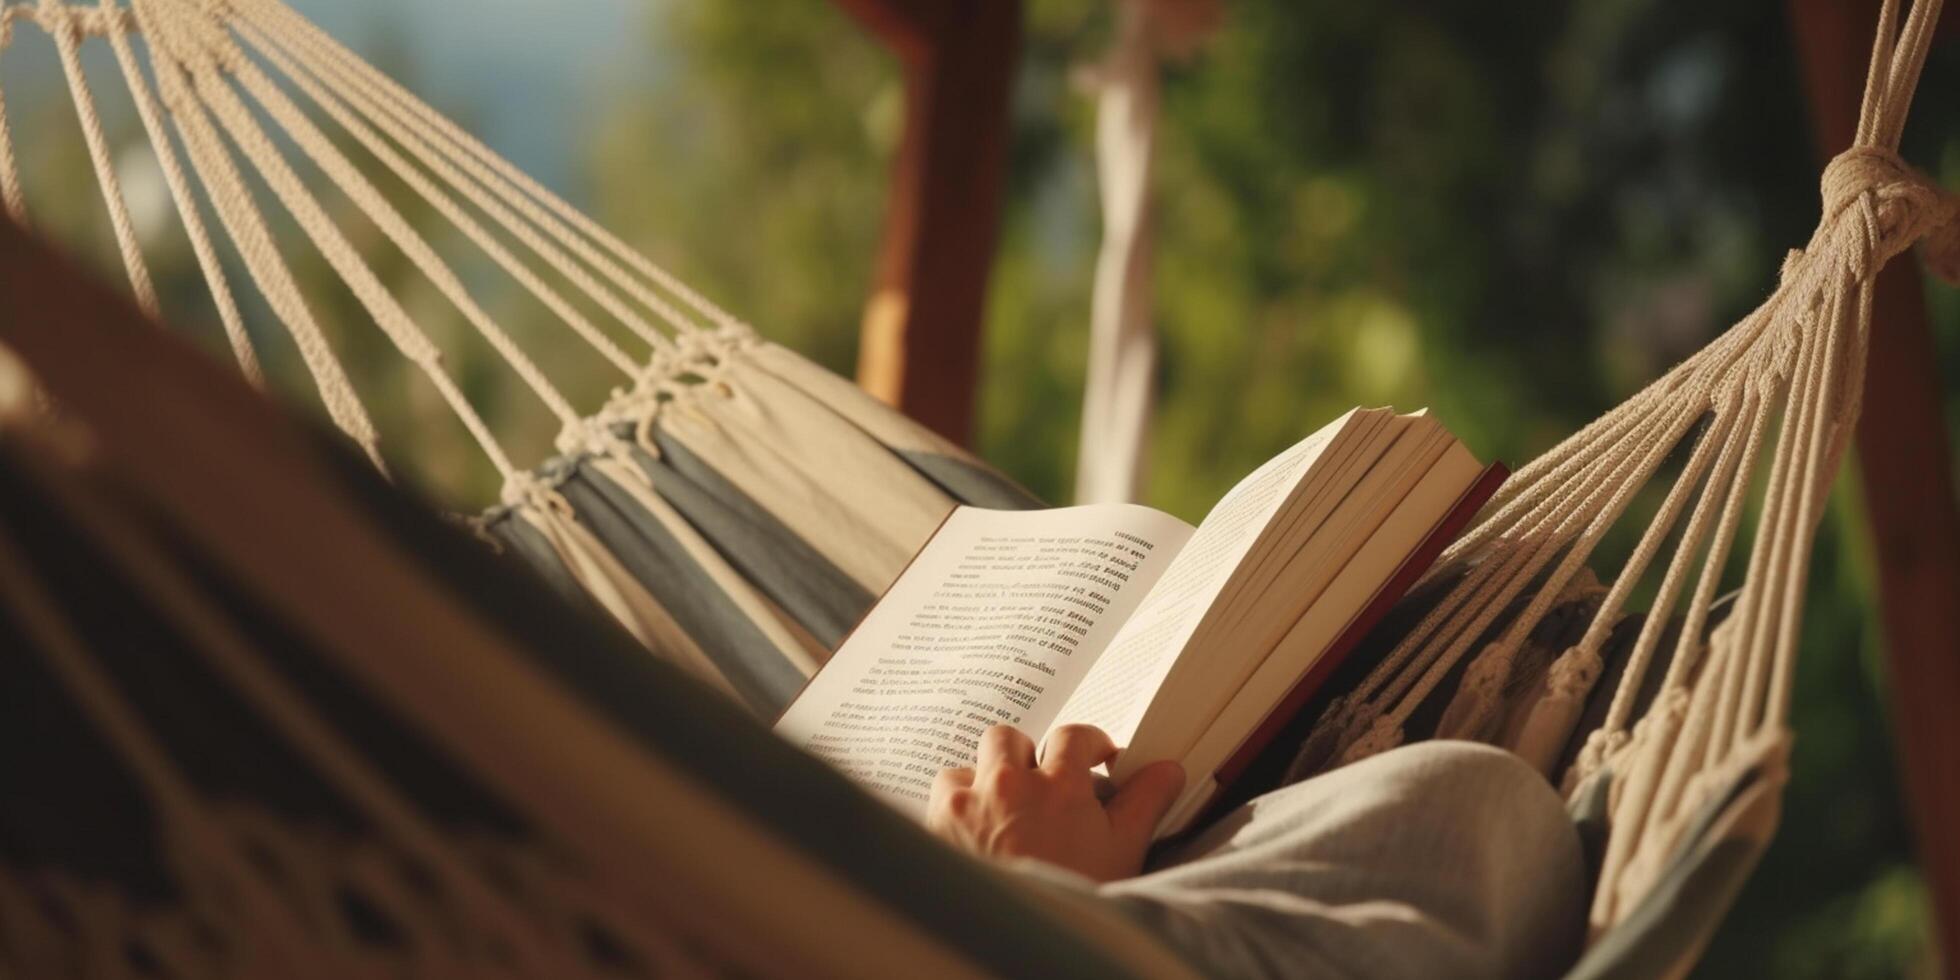
[[1143, 870], [1151, 831], [1184, 790], [1184, 768], [1152, 762], [1102, 800], [1090, 770], [1115, 751], [1098, 727], [1062, 725], [1037, 766], [1033, 739], [994, 725], [980, 737], [974, 768], [933, 780], [925, 825], [976, 855], [1031, 857], [1098, 882], [1129, 878]]

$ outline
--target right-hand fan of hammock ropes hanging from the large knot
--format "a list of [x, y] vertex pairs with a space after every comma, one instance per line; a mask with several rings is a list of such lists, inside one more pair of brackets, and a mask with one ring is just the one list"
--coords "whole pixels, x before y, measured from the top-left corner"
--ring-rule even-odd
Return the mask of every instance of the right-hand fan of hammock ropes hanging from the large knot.
[[[1897, 157], [1938, 4], [1915, 4], [1903, 25], [1897, 8], [1884, 4], [1858, 143], [1825, 169], [1823, 218], [1811, 241], [1784, 263], [1776, 292], [1705, 351], [1513, 476], [1490, 515], [1443, 563], [1476, 563], [1474, 570], [1347, 702], [1323, 715], [1315, 733], [1323, 745], [1337, 743], [1343, 760], [1397, 745], [1409, 715], [1529, 584], [1535, 598], [1501, 639], [1470, 659], [1437, 731], [1490, 741], [1503, 710], [1495, 692], [1515, 682], [1525, 635], [1586, 564], [1603, 531], [1621, 519], [1633, 494], [1654, 482], [1662, 461], [1691, 439], [1690, 459], [1652, 523], [1584, 637], [1548, 670], [1511, 745], [1558, 776], [1550, 772], [1558, 747], [1572, 735], [1603, 670], [1599, 647], [1633, 590], [1660, 564], [1650, 615], [1605, 723], [1586, 735], [1578, 762], [1564, 774], [1572, 794], [1605, 770], [1621, 774], [1613, 784], [1613, 835], [1593, 907], [1595, 931], [1625, 917], [1674, 851], [1686, 821], [1735, 770], [1782, 766], [1809, 545], [1858, 414], [1872, 280], [1886, 261], [1915, 243], [1923, 243], [1936, 274], [1956, 278], [1960, 208]], [[1772, 431], [1740, 598], [1703, 643]], [[1666, 543], [1684, 515], [1686, 529], [1668, 555]], [[1554, 557], [1556, 568], [1537, 582]], [[1662, 680], [1660, 710], [1637, 721], [1637, 692], [1690, 580], [1695, 586]]]

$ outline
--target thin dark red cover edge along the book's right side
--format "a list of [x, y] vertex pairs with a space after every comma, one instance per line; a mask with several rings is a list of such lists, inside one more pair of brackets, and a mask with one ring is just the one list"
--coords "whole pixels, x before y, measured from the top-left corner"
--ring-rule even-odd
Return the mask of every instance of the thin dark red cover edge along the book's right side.
[[[1470, 525], [1470, 517], [1484, 508], [1484, 502], [1497, 492], [1497, 486], [1501, 486], [1509, 474], [1511, 470], [1505, 468], [1503, 463], [1484, 466], [1484, 472], [1476, 478], [1476, 482], [1470, 484], [1470, 488], [1456, 498], [1456, 504], [1450, 506], [1448, 514], [1445, 514], [1443, 519], [1429, 529], [1423, 543], [1417, 545], [1409, 557], [1401, 559], [1401, 564], [1397, 564], [1396, 572], [1388, 576], [1388, 582], [1376, 590], [1374, 598], [1368, 600], [1368, 606], [1364, 606], [1362, 612], [1348, 621], [1347, 629], [1343, 629], [1341, 635], [1327, 645], [1327, 651], [1313, 661], [1313, 666], [1307, 668], [1298, 684], [1294, 684], [1294, 690], [1288, 692], [1280, 706], [1274, 708], [1272, 713], [1268, 713], [1266, 719], [1260, 721], [1260, 725], [1252, 729], [1243, 743], [1239, 743], [1239, 751], [1235, 751], [1231, 759], [1219, 766], [1215, 774], [1217, 790], [1211, 796], [1211, 808], [1217, 806], [1217, 800], [1225, 798], [1225, 790], [1233, 782], [1245, 776], [1247, 766], [1258, 759], [1258, 753], [1272, 745], [1272, 739], [1280, 735], [1286, 723], [1313, 700], [1313, 694], [1319, 692], [1321, 684], [1325, 684], [1335, 668], [1347, 661], [1348, 653], [1354, 653], [1354, 647], [1360, 645], [1362, 637], [1366, 637], [1376, 623], [1382, 621], [1382, 615], [1388, 615], [1388, 610], [1394, 608], [1396, 602], [1409, 592], [1409, 588], [1415, 588], [1415, 582], [1423, 578], [1423, 572], [1435, 564], [1437, 557], [1443, 555], [1443, 549], [1446, 549], [1450, 541], [1456, 541], [1456, 535]], [[1192, 823], [1192, 827], [1201, 827], [1215, 815], [1217, 813], [1207, 809], [1198, 821]]]

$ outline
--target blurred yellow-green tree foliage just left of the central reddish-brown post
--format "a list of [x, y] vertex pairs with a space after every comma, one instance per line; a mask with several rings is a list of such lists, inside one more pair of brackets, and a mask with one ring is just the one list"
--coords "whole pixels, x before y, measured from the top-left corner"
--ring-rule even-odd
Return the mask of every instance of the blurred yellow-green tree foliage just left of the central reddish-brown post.
[[598, 214], [849, 374], [904, 110], [896, 69], [829, 4], [672, 4], [653, 37], [659, 71], [592, 153]]

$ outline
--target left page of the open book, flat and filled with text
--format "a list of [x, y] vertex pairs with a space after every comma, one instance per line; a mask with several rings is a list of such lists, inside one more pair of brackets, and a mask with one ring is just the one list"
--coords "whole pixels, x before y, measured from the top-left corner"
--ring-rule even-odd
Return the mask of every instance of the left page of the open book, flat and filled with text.
[[1192, 533], [1129, 504], [958, 508], [776, 733], [923, 815], [988, 727], [1049, 729]]

